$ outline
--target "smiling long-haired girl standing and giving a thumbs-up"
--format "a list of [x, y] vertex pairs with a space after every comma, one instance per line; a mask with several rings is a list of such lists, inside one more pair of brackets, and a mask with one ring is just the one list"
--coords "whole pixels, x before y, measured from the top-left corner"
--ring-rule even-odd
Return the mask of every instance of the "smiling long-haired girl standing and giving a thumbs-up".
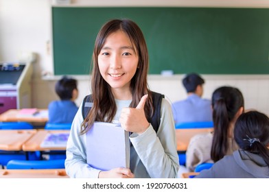
[[[163, 98], [155, 132], [150, 123], [154, 105], [148, 67], [148, 49], [136, 23], [114, 19], [103, 25], [93, 50], [93, 106], [85, 119], [80, 106], [67, 142], [65, 168], [71, 178], [176, 178], [179, 161], [172, 109]], [[86, 132], [94, 121], [119, 122], [131, 132], [130, 169], [104, 171], [86, 163]]]

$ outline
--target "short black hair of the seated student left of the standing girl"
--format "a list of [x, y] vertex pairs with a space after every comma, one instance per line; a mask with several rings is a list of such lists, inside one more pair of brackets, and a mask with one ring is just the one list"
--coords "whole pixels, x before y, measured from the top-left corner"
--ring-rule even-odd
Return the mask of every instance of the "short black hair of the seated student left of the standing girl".
[[77, 80], [67, 76], [62, 77], [55, 85], [55, 91], [61, 100], [71, 99], [74, 89], [78, 90]]

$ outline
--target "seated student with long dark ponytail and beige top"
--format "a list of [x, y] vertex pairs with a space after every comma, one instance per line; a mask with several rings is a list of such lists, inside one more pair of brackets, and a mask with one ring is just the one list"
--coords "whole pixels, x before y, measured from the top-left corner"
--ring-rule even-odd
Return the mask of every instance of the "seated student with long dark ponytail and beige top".
[[222, 86], [212, 95], [214, 132], [191, 138], [186, 152], [186, 167], [194, 171], [201, 163], [213, 163], [238, 147], [233, 142], [233, 127], [244, 111], [242, 93], [234, 87]]

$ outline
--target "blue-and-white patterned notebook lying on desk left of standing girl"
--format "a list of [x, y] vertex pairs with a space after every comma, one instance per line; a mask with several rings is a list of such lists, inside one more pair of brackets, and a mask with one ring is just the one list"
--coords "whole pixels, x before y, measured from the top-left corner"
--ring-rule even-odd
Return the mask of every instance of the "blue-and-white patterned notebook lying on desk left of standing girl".
[[50, 133], [47, 134], [40, 147], [67, 147], [69, 133]]

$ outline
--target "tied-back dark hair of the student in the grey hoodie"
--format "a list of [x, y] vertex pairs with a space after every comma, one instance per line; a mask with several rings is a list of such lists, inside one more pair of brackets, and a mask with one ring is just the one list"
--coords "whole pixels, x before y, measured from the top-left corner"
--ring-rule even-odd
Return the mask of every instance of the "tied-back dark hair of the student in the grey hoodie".
[[261, 112], [240, 115], [234, 130], [237, 145], [250, 153], [259, 154], [269, 166], [269, 118]]

